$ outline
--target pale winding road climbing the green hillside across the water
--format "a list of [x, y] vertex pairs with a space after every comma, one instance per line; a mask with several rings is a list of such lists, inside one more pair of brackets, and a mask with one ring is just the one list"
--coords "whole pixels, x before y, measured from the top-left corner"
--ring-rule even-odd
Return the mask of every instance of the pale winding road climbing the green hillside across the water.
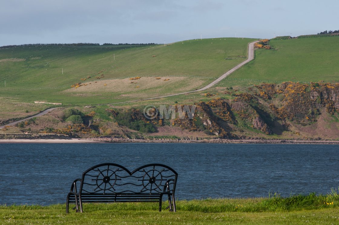
[[[176, 95], [184, 95], [184, 94], [188, 94], [188, 93], [193, 93], [193, 92], [197, 92], [197, 91], [206, 90], [207, 88], [210, 88], [210, 87], [214, 86], [215, 84], [219, 83], [222, 79], [226, 78], [227, 76], [232, 74], [234, 71], [236, 71], [237, 69], [239, 69], [240, 67], [242, 67], [246, 63], [252, 61], [254, 59], [254, 44], [257, 43], [257, 42], [259, 42], [259, 40], [251, 42], [251, 43], [248, 43], [248, 50], [247, 50], [248, 57], [247, 57], [247, 59], [245, 61], [239, 63], [238, 65], [236, 65], [235, 67], [233, 67], [232, 69], [228, 70], [226, 73], [221, 75], [219, 78], [215, 79], [212, 83], [210, 83], [210, 84], [208, 84], [208, 85], [206, 85], [206, 86], [204, 86], [204, 87], [202, 87], [202, 88], [200, 88], [198, 90], [186, 91], [186, 92], [183, 92], [183, 93], [178, 93], [178, 94], [173, 94], [173, 95], [165, 95], [165, 96], [154, 97], [154, 98], [139, 99], [139, 100], [126, 101], [126, 102], [114, 102], [114, 103], [106, 103], [106, 104], [94, 104], [94, 105], [113, 105], [113, 104], [121, 104], [121, 103], [128, 103], [128, 102], [140, 102], [140, 101], [145, 101], [145, 100], [159, 99], [159, 98], [165, 98], [165, 97], [176, 96]], [[29, 120], [29, 119], [34, 118], [34, 117], [39, 117], [39, 116], [45, 115], [48, 112], [52, 111], [53, 109], [56, 109], [56, 108], [49, 108], [49, 109], [46, 109], [46, 110], [40, 112], [39, 114], [37, 114], [35, 116], [27, 117], [25, 119], [18, 120], [18, 121], [15, 121], [15, 122], [8, 123], [6, 125], [0, 126], [0, 129], [5, 128], [5, 126], [13, 126], [13, 125], [15, 125], [17, 123], [20, 123], [22, 121]]]

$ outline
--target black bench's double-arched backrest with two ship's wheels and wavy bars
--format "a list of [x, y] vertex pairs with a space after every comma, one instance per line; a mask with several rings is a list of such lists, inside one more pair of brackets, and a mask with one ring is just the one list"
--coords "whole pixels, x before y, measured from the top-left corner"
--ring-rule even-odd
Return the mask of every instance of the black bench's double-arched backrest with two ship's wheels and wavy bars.
[[80, 193], [173, 193], [178, 173], [163, 164], [147, 164], [132, 172], [115, 163], [103, 163], [82, 174]]

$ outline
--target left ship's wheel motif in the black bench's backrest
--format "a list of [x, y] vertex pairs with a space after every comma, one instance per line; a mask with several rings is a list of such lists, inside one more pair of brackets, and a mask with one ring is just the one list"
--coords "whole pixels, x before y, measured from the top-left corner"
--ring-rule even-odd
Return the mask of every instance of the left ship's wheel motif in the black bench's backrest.
[[98, 176], [96, 178], [97, 187], [94, 190], [96, 190], [98, 188], [103, 190], [103, 191], [109, 190], [111, 188], [114, 189], [113, 186], [117, 182], [117, 175], [115, 174], [115, 172], [117, 170], [113, 171], [112, 169], [109, 169], [109, 165], [108, 165], [107, 169], [100, 170], [98, 168], [98, 171], [99, 171], [99, 173], [98, 173]]

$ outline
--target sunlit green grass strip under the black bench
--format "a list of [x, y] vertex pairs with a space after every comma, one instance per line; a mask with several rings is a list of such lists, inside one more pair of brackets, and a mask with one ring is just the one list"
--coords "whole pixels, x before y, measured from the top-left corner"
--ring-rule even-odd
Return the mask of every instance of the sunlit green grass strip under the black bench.
[[[333, 201], [333, 204], [332, 204]], [[84, 204], [84, 213], [65, 205], [0, 206], [1, 224], [337, 224], [339, 197], [206, 199], [177, 201], [177, 212], [156, 203]], [[331, 203], [331, 204], [327, 204]]]

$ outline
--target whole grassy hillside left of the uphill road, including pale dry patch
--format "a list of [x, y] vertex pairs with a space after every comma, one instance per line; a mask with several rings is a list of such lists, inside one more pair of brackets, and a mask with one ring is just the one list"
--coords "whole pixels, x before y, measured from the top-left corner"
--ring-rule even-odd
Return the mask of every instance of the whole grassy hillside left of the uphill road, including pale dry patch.
[[[94, 104], [194, 90], [245, 60], [247, 43], [253, 40], [214, 38], [167, 46], [37, 45], [0, 49], [0, 96], [23, 102]], [[132, 84], [121, 80], [136, 76], [142, 79]], [[161, 79], [142, 81], [145, 77]], [[87, 88], [63, 92], [78, 82], [87, 82]], [[120, 90], [115, 91], [117, 88]], [[103, 93], [105, 97], [97, 97]]]

